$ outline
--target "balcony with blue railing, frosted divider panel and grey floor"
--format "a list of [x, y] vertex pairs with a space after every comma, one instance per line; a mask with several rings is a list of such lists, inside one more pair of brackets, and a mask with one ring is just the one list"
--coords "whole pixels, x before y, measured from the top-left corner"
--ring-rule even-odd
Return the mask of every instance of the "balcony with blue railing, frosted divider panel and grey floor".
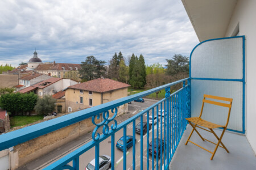
[[[99, 163], [99, 156], [104, 154], [109, 155], [112, 160], [111, 169], [252, 169], [256, 166], [256, 158], [244, 135], [245, 65], [241, 62], [245, 57], [244, 45], [243, 36], [201, 43], [191, 53], [189, 78], [0, 135], [0, 150], [54, 133], [82, 120], [89, 120], [94, 124], [92, 139], [76, 147], [74, 142], [75, 148], [71, 152], [60, 159], [53, 159], [52, 163], [46, 163], [44, 169], [85, 169], [94, 158], [95, 169], [99, 169], [102, 165]], [[229, 57], [234, 55], [238, 55], [237, 58], [229, 63]], [[235, 66], [238, 66], [236, 74]], [[181, 88], [171, 94], [170, 88], [176, 84], [182, 84]], [[125, 121], [117, 121], [119, 106], [159, 90], [166, 91], [164, 99]], [[226, 132], [223, 138], [230, 153], [218, 148], [213, 160], [201, 148], [192, 146], [191, 143], [184, 145], [184, 140], [191, 131], [185, 118], [197, 116], [202, 94], [205, 93], [234, 99], [228, 126], [231, 132]], [[218, 108], [207, 109], [209, 113], [221, 111]], [[156, 117], [155, 121], [150, 121], [150, 116]], [[221, 122], [223, 116], [217, 114], [216, 117], [208, 118]], [[136, 134], [137, 125], [143, 129], [142, 122], [146, 122], [146, 129]], [[128, 135], [131, 140], [126, 138]], [[118, 142], [122, 136], [122, 142]], [[208, 134], [205, 136], [211, 139]], [[159, 140], [154, 140], [155, 138]], [[203, 143], [207, 148], [212, 147], [211, 143], [199, 139], [197, 135], [192, 135], [192, 141]], [[119, 147], [121, 149], [116, 147], [117, 142], [122, 145]], [[72, 143], [69, 147], [72, 147]]]

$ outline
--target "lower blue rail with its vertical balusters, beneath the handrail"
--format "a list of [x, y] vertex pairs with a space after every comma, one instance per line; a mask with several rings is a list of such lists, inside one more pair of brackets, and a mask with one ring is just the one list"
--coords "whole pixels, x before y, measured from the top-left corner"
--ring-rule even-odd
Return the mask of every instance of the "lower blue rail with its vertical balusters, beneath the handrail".
[[[174, 154], [175, 150], [176, 150], [176, 145], [177, 143], [177, 140], [179, 140], [179, 136], [181, 136], [181, 133], [180, 133], [180, 129], [176, 128], [177, 127], [177, 120], [178, 120], [178, 117], [177, 117], [177, 114], [179, 114], [179, 118], [181, 118], [181, 97], [184, 97], [183, 95], [180, 95], [182, 94], [184, 91], [185, 88], [187, 88], [188, 85], [180, 88], [180, 90], [176, 91], [175, 93], [171, 94], [170, 97], [168, 97], [167, 99], [162, 99], [160, 101], [158, 101], [158, 103], [155, 103], [153, 105], [151, 105], [151, 107], [148, 107], [147, 109], [145, 109], [144, 111], [136, 114], [135, 116], [129, 118], [128, 120], [122, 122], [121, 124], [117, 125], [117, 129], [115, 129], [114, 131], [113, 130], [110, 130], [110, 133], [108, 135], [101, 135], [100, 138], [97, 140], [97, 141], [90, 141], [89, 143], [86, 143], [84, 146], [80, 147], [80, 148], [77, 148], [77, 150], [71, 152], [71, 154], [65, 156], [64, 158], [61, 158], [60, 160], [57, 160], [57, 162], [49, 165], [47, 168], [45, 169], [57, 169], [58, 167], [63, 167], [65, 164], [69, 163], [72, 161], [73, 158], [77, 158], [79, 159], [79, 156], [81, 154], [83, 154], [84, 152], [88, 151], [90, 148], [92, 148], [93, 146], [96, 146], [96, 149], [95, 149], [95, 154], [96, 154], [96, 169], [98, 168], [98, 156], [99, 156], [99, 150], [100, 150], [100, 142], [101, 141], [104, 141], [106, 138], [108, 138], [110, 135], [112, 136], [112, 138], [114, 138], [114, 134], [118, 131], [118, 130], [121, 130], [123, 128], [123, 136], [124, 136], [124, 147], [123, 147], [123, 169], [126, 169], [126, 131], [127, 131], [127, 125], [130, 124], [131, 122], [133, 122], [133, 146], [135, 146], [135, 120], [137, 120], [137, 118], [141, 117], [141, 127], [142, 127], [142, 122], [143, 122], [143, 114], [144, 113], [147, 113], [147, 169], [149, 168], [149, 152], [148, 152], [148, 147], [149, 147], [149, 111], [152, 110], [152, 117], [153, 117], [153, 120], [152, 120], [152, 169], [154, 169], [154, 108], [156, 107], [156, 115], [157, 115], [157, 126], [159, 124], [159, 120], [158, 120], [158, 105], [160, 104], [160, 107], [161, 107], [161, 111], [163, 111], [162, 109], [162, 103], [164, 103], [164, 114], [167, 113], [167, 116], [164, 116], [164, 167], [166, 167], [166, 164], [169, 164], [171, 162], [171, 153], [172, 155]], [[175, 97], [174, 97], [175, 96]], [[177, 96], [179, 97], [179, 102], [177, 100]], [[184, 98], [183, 98], [184, 99]], [[178, 107], [177, 107], [177, 102], [178, 102]], [[170, 108], [169, 108], [170, 106]], [[183, 105], [184, 106], [184, 105]], [[166, 109], [167, 107], [167, 109]], [[172, 112], [172, 108], [174, 109], [175, 113]], [[184, 108], [183, 108], [184, 110]], [[169, 111], [171, 111], [171, 116], [169, 116]], [[175, 114], [175, 115], [174, 115]], [[175, 118], [175, 121], [172, 122], [171, 120], [173, 120]], [[166, 120], [167, 118], [167, 120]], [[166, 127], [166, 122], [168, 121], [167, 123], [167, 127]], [[180, 120], [179, 120], [180, 121]], [[161, 122], [160, 124], [162, 125], [162, 116], [161, 116]], [[171, 126], [169, 126], [169, 124]], [[179, 126], [181, 125], [181, 122], [179, 122]], [[161, 126], [162, 128], [162, 126]], [[143, 128], [141, 128], [141, 133], [142, 133], [142, 130]], [[172, 134], [172, 129], [175, 130], [175, 133]], [[166, 131], [167, 131], [167, 134], [166, 134]], [[179, 132], [179, 133], [177, 133]], [[161, 130], [161, 143], [162, 143], [162, 130]], [[171, 134], [171, 135], [170, 135]], [[157, 138], [158, 138], [158, 128], [157, 128]], [[166, 136], [167, 135], [167, 136]], [[175, 140], [174, 140], [174, 136], [175, 136]], [[141, 135], [141, 138], [143, 137], [143, 135]], [[172, 139], [172, 143], [170, 143]], [[166, 140], [167, 140], [167, 151], [166, 151]], [[113, 140], [114, 141], [114, 140]], [[156, 140], [158, 141], [158, 140]], [[175, 142], [175, 144], [174, 144]], [[112, 142], [114, 143], [114, 142]], [[143, 139], [142, 139], [142, 143], [143, 143]], [[158, 145], [157, 145], [158, 146]], [[171, 148], [174, 148], [174, 149], [171, 149], [170, 148], [170, 152], [169, 152], [169, 146], [173, 146]], [[112, 144], [112, 153], [114, 153], [113, 151], [113, 148], [114, 148], [114, 145]], [[141, 153], [143, 152], [143, 145], [141, 147]], [[162, 148], [162, 147], [161, 147]], [[162, 152], [162, 149], [161, 149], [161, 152]], [[158, 153], [158, 148], [157, 148], [157, 153]], [[169, 154], [170, 154], [170, 157], [169, 157]], [[135, 168], [135, 147], [133, 147], [133, 168]], [[167, 156], [167, 159], [165, 159]], [[143, 156], [141, 156], [143, 157]], [[158, 157], [158, 154], [156, 154], [156, 157]], [[113, 158], [113, 155], [112, 155], [112, 158]], [[158, 169], [158, 158], [157, 159], [157, 169]], [[114, 158], [113, 158], [114, 160]], [[166, 162], [166, 160], [168, 160], [168, 162]], [[161, 156], [161, 161], [162, 161], [162, 156]], [[142, 159], [142, 163], [143, 164], [143, 159]], [[162, 164], [161, 164], [162, 165]], [[114, 165], [112, 165], [113, 167]], [[166, 167], [168, 168], [168, 166]], [[114, 169], [114, 167], [113, 167]], [[161, 169], [162, 169], [162, 166], [161, 166]]]

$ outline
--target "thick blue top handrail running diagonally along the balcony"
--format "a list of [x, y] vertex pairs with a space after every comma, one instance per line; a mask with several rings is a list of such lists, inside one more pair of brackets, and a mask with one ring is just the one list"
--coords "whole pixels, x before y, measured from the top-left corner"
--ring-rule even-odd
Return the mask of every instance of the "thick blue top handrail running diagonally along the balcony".
[[65, 126], [75, 124], [77, 122], [85, 120], [86, 118], [95, 116], [98, 113], [108, 111], [110, 109], [118, 107], [119, 105], [126, 104], [129, 101], [138, 99], [139, 97], [143, 97], [143, 96], [152, 94], [156, 91], [163, 90], [164, 88], [174, 86], [175, 84], [184, 82], [185, 80], [188, 80], [188, 78], [181, 79], [169, 84], [165, 84], [160, 87], [152, 88], [151, 90], [147, 90], [139, 94], [127, 96], [122, 99], [118, 99], [114, 101], [110, 101], [109, 103], [97, 105], [96, 107], [88, 108], [83, 111], [78, 111], [72, 114], [67, 114], [65, 116], [57, 117], [52, 120], [42, 122], [40, 124], [28, 126], [26, 128], [11, 131], [10, 133], [2, 134], [0, 137], [0, 150], [4, 150], [6, 148], [18, 145], [19, 143], [30, 141], [31, 139], [40, 137], [41, 135], [50, 133], [57, 129], [64, 128]]

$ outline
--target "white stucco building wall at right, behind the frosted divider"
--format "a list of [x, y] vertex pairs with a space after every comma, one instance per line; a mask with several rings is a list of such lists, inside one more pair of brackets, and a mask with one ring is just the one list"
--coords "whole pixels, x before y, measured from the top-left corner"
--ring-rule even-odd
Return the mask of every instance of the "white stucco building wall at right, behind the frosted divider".
[[234, 10], [226, 37], [239, 23], [239, 35], [246, 36], [246, 137], [256, 153], [256, 1], [240, 0]]

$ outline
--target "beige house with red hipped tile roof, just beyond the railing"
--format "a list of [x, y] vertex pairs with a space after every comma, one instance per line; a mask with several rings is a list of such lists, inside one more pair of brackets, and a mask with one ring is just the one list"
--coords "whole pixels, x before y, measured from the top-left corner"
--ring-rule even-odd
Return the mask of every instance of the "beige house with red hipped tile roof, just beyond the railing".
[[[78, 111], [126, 97], [129, 86], [126, 83], [102, 78], [69, 86], [65, 91], [66, 111]], [[124, 112], [127, 112], [127, 104], [118, 107], [118, 114]]]

